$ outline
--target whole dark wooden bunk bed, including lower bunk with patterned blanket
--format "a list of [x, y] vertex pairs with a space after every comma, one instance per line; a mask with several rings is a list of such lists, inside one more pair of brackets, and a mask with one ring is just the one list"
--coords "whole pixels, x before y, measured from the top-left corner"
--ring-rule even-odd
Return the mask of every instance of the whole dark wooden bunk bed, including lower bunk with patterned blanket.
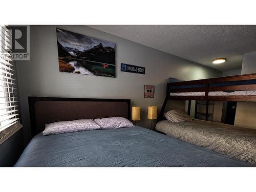
[[[168, 100], [205, 101], [206, 121], [166, 120]], [[207, 121], [209, 101], [256, 102], [256, 74], [167, 83], [156, 131], [256, 165], [256, 130]]]

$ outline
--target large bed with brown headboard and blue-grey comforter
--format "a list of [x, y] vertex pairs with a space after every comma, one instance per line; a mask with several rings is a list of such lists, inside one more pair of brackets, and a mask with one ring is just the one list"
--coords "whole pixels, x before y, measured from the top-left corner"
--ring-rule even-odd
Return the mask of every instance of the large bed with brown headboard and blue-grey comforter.
[[251, 166], [140, 126], [43, 136], [45, 124], [120, 116], [128, 99], [29, 97], [33, 138], [15, 166]]

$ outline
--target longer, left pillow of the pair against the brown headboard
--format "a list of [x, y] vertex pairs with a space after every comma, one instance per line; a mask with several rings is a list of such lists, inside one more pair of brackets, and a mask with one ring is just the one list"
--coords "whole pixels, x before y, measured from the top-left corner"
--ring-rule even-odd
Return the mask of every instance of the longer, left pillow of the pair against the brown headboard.
[[97, 125], [92, 119], [79, 119], [74, 121], [58, 121], [46, 124], [46, 129], [42, 132], [42, 134], [54, 135], [60, 133], [70, 133], [98, 129], [100, 129], [100, 126]]

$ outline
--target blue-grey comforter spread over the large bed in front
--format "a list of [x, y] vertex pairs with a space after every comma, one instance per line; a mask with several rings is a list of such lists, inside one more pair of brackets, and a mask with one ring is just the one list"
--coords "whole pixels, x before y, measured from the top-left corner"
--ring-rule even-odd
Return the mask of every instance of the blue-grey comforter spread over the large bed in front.
[[140, 126], [36, 135], [15, 166], [251, 166]]

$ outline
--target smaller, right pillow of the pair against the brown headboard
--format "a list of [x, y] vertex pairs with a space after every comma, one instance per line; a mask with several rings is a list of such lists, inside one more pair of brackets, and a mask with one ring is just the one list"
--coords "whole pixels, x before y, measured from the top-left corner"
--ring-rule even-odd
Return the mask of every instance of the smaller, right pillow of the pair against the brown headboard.
[[133, 126], [133, 123], [124, 117], [94, 119], [94, 122], [100, 126], [100, 129], [118, 129]]

